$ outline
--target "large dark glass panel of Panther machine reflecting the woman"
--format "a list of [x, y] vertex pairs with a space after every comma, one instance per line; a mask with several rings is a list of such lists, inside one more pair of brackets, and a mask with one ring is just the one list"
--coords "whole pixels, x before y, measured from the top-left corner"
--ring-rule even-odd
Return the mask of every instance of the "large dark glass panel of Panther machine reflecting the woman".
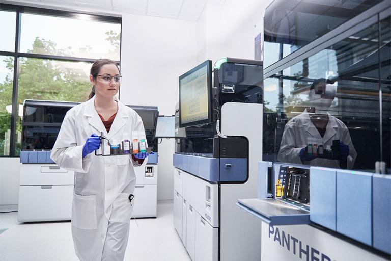
[[265, 79], [264, 160], [374, 170], [377, 51], [374, 24]]

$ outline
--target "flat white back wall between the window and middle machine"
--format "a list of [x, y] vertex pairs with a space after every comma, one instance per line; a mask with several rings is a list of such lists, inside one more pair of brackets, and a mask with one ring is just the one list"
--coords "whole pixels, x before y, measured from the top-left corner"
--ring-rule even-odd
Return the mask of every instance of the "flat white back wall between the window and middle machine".
[[[175, 114], [178, 77], [197, 65], [197, 23], [123, 15], [120, 99]], [[173, 199], [174, 140], [158, 145], [158, 200]]]

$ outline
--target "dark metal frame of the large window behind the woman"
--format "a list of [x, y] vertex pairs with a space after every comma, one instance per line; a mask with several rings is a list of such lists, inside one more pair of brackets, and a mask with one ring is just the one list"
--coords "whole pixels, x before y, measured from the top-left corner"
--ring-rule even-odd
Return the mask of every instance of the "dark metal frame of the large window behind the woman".
[[2, 4], [0, 10], [14, 11], [16, 12], [16, 31], [15, 31], [15, 48], [14, 51], [2, 51], [0, 50], [0, 56], [10, 56], [14, 58], [14, 71], [13, 71], [13, 86], [12, 86], [12, 113], [11, 113], [11, 136], [10, 136], [10, 151], [9, 155], [0, 155], [0, 158], [19, 158], [19, 155], [15, 155], [15, 141], [16, 141], [16, 123], [18, 120], [18, 79], [19, 79], [19, 59], [20, 58], [37, 58], [48, 59], [63, 62], [88, 62], [93, 63], [96, 59], [88, 59], [82, 57], [67, 57], [67, 56], [54, 56], [54, 55], [41, 55], [41, 54], [29, 54], [20, 52], [20, 33], [21, 33], [21, 14], [24, 12], [67, 17], [73, 19], [80, 19], [80, 14], [88, 15], [92, 21], [101, 21], [108, 23], [120, 24], [120, 61], [114, 61], [118, 66], [121, 66], [121, 50], [122, 50], [122, 17], [95, 15], [90, 13], [73, 12], [52, 10], [46, 8], [37, 8], [20, 5]]

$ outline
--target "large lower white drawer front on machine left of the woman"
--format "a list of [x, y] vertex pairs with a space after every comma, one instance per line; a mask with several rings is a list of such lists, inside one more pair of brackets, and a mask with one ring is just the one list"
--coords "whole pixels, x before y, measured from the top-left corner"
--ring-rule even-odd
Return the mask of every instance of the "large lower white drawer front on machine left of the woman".
[[73, 185], [20, 186], [18, 221], [71, 220]]

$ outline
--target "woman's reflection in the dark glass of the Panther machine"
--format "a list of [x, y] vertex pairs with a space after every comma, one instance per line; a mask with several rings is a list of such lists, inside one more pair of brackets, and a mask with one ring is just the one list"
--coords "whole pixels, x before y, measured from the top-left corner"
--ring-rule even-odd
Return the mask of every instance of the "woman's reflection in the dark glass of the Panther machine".
[[[327, 82], [327, 84], [326, 84]], [[315, 80], [309, 91], [309, 107], [285, 126], [278, 161], [352, 169], [357, 152], [346, 125], [327, 110], [337, 86]]]

